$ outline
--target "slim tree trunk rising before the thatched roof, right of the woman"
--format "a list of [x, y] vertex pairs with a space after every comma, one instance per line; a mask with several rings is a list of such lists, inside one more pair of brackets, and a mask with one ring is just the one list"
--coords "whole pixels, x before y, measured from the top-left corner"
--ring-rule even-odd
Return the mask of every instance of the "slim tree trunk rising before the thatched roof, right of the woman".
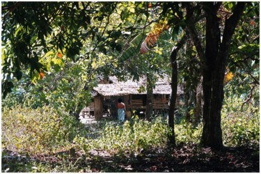
[[153, 112], [153, 86], [150, 76], [147, 76], [147, 99], [146, 99], [146, 119], [148, 121], [151, 120], [152, 112]]

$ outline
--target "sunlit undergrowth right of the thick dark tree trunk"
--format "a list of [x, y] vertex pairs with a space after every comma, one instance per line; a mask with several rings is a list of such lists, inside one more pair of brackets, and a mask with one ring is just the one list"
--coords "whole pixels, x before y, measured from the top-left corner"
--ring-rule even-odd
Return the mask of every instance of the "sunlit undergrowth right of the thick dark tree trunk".
[[255, 146], [260, 141], [258, 106], [248, 103], [242, 107], [241, 98], [227, 97], [223, 105], [221, 127], [226, 146]]

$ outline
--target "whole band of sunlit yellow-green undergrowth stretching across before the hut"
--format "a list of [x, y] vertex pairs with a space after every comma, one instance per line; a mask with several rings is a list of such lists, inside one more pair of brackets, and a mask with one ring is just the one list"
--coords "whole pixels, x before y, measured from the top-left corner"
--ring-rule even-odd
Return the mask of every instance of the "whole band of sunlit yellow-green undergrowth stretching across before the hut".
[[[257, 146], [260, 139], [257, 105], [243, 105], [242, 99], [228, 96], [222, 112], [223, 142], [226, 146]], [[244, 110], [244, 112], [242, 112]], [[176, 115], [177, 143], [200, 143], [202, 124], [186, 121], [182, 112]], [[15, 127], [16, 129], [12, 129]], [[101, 122], [100, 126], [84, 128], [72, 116], [52, 107], [31, 109], [12, 107], [3, 110], [2, 144], [19, 153], [56, 153], [79, 148], [86, 154], [92, 149], [120, 152], [163, 147], [167, 144], [166, 119], [152, 121], [134, 117], [123, 125]], [[55, 137], [55, 138], [54, 138]], [[72, 142], [75, 144], [72, 145]]]

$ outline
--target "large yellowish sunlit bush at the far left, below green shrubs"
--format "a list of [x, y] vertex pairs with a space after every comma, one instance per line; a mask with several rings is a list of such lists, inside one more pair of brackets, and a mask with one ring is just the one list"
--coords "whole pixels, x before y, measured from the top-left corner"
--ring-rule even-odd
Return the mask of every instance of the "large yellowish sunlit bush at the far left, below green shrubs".
[[2, 147], [29, 155], [68, 150], [76, 134], [84, 134], [74, 117], [48, 106], [3, 108], [1, 121]]

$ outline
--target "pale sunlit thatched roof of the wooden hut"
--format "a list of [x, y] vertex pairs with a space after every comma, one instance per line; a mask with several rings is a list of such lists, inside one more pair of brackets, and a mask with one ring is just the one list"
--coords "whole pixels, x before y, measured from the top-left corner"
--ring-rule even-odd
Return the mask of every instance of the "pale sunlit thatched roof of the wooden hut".
[[[120, 82], [116, 77], [109, 77], [111, 84], [98, 84], [93, 89], [97, 94], [102, 96], [125, 96], [128, 94], [146, 94], [147, 92], [139, 92], [141, 86], [145, 87], [146, 79], [141, 78], [139, 81], [127, 80], [126, 82]], [[182, 91], [178, 88], [178, 94]], [[156, 82], [153, 94], [171, 94], [171, 85], [167, 77], [159, 78]]]

